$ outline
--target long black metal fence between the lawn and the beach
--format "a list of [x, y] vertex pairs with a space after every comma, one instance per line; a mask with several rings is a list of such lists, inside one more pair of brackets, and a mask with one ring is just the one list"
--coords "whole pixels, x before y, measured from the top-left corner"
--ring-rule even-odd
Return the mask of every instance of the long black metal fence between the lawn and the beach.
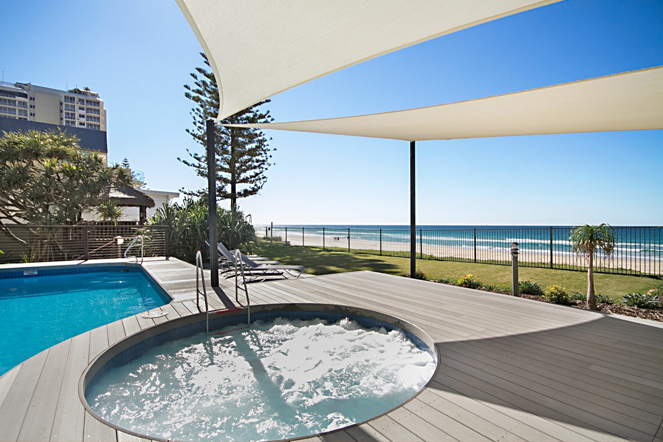
[[[517, 229], [416, 230], [421, 259], [511, 265], [511, 243], [518, 243], [524, 267], [586, 270], [586, 260], [572, 250], [572, 227]], [[337, 227], [257, 228], [259, 237], [292, 246], [410, 256], [410, 231]], [[595, 272], [663, 276], [663, 227], [615, 227], [617, 247], [611, 256], [595, 257]]]

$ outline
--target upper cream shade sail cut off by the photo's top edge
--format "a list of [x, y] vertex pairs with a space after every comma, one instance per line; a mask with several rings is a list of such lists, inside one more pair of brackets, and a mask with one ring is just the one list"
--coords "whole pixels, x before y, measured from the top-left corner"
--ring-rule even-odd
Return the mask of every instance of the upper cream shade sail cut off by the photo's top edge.
[[176, 0], [210, 60], [219, 119], [353, 64], [559, 0]]

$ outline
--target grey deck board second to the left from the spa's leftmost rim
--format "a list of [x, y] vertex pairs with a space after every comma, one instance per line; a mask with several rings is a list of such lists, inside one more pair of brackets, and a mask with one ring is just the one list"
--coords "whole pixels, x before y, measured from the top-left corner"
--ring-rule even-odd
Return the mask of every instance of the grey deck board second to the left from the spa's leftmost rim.
[[68, 339], [48, 351], [17, 440], [36, 441], [50, 435], [70, 346]]

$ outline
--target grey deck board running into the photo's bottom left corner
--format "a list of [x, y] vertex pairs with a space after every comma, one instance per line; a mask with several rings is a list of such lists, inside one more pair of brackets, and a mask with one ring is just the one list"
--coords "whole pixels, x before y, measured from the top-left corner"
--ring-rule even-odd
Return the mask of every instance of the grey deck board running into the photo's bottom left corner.
[[[0, 406], [0, 441], [16, 441], [19, 438], [32, 394], [41, 376], [50, 349], [23, 362], [12, 386]], [[9, 425], [11, 423], [11, 425]]]

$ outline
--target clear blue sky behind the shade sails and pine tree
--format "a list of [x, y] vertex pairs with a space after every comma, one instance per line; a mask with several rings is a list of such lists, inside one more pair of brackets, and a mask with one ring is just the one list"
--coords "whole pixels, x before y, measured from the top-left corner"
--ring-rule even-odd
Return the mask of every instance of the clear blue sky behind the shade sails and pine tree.
[[[196, 189], [178, 156], [200, 44], [174, 1], [3, 1], [5, 81], [89, 86], [109, 160], [150, 188]], [[259, 30], [256, 30], [259, 32]], [[456, 32], [280, 93], [276, 121], [435, 105], [663, 64], [663, 2], [568, 0]], [[408, 144], [271, 131], [255, 223], [408, 223]], [[663, 131], [418, 143], [418, 223], [663, 223]]]

